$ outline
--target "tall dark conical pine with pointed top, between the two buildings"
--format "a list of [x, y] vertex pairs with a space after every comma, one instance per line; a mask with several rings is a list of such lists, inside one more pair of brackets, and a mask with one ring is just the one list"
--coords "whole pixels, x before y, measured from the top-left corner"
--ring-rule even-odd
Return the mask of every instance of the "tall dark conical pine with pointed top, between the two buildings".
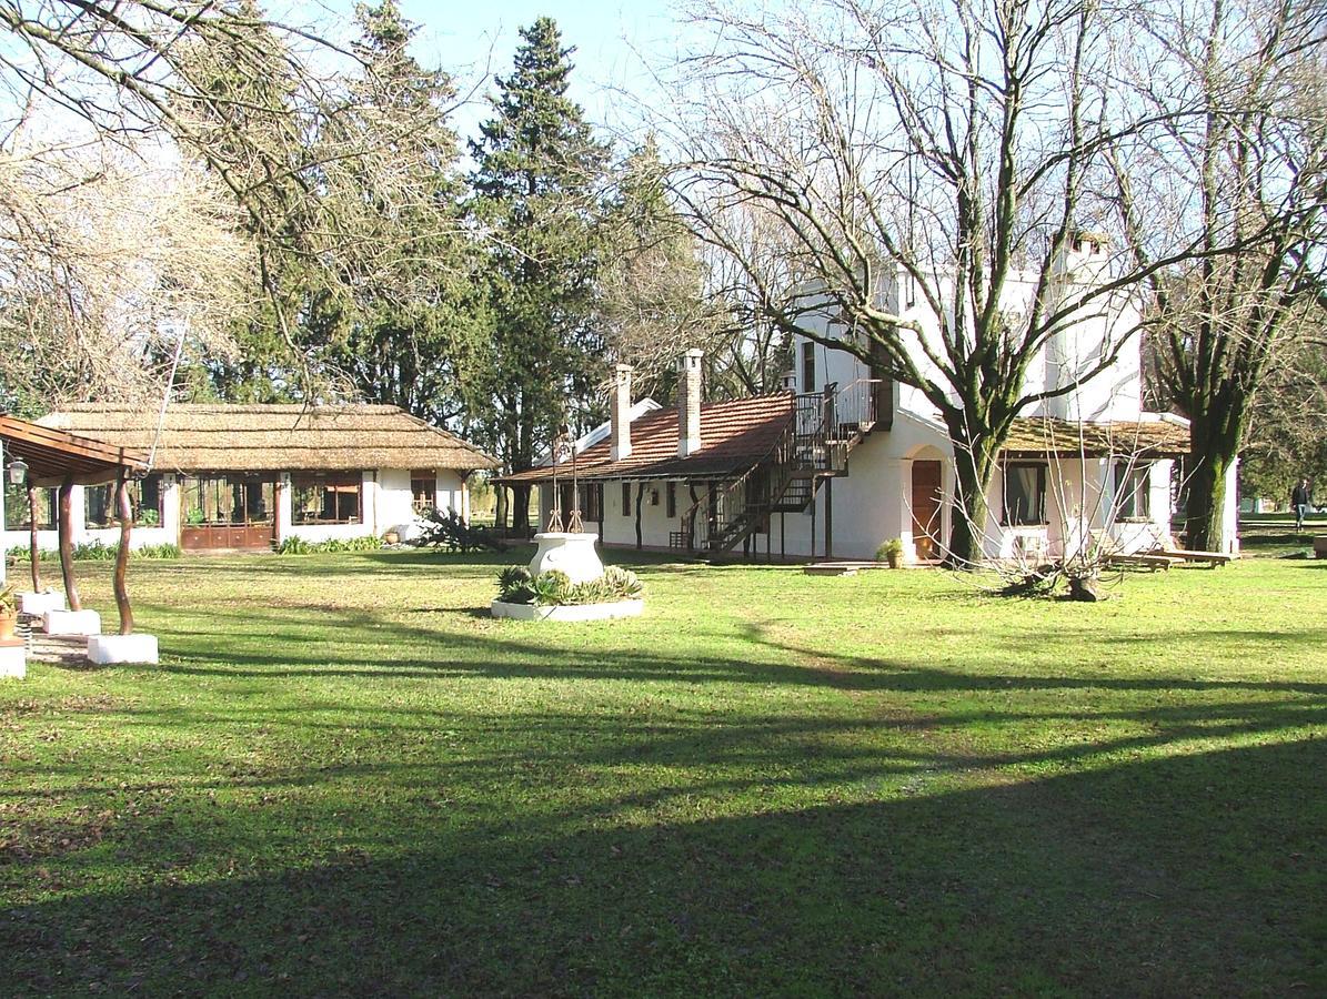
[[[472, 143], [494, 326], [467, 395], [510, 471], [529, 468], [589, 398], [604, 349], [594, 291], [608, 150], [567, 97], [573, 49], [557, 25], [541, 17], [520, 37]], [[528, 487], [514, 499], [514, 527], [529, 527]]]

